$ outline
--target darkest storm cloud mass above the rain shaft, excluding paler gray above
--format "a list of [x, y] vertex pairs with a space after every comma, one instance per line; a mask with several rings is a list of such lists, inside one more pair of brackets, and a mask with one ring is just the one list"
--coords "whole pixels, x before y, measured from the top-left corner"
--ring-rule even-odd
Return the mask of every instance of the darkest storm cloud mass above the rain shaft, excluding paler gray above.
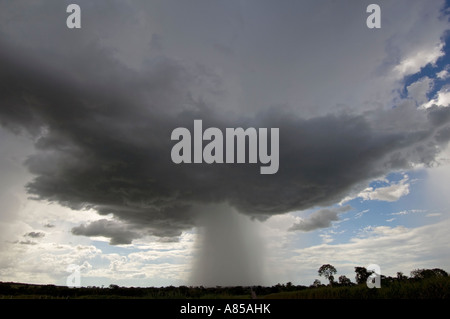
[[[195, 226], [197, 206], [210, 203], [228, 202], [260, 219], [334, 204], [371, 178], [433, 163], [450, 138], [449, 108], [405, 104], [303, 119], [274, 107], [233, 116], [196, 94], [220, 94], [220, 79], [204, 85], [208, 68], [161, 53], [132, 69], [84, 29], [57, 30], [59, 47], [2, 37], [0, 123], [34, 140], [25, 163], [35, 175], [27, 185], [32, 196], [112, 213], [126, 225], [102, 220], [75, 227], [76, 235], [107, 236], [113, 244], [145, 234], [170, 238]], [[149, 47], [160, 52], [162, 44], [154, 36]], [[204, 128], [278, 127], [278, 173], [261, 175], [259, 164], [175, 165], [171, 132], [192, 130], [194, 119]]]

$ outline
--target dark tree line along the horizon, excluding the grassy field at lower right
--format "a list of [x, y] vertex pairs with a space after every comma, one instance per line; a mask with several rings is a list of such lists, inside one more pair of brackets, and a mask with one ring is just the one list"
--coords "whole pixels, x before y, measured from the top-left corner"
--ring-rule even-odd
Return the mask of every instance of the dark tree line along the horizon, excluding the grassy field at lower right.
[[[328, 280], [328, 284], [322, 284], [319, 279], [314, 280], [310, 286], [294, 285], [292, 282], [276, 284], [273, 286], [232, 286], [232, 287], [203, 287], [203, 286], [168, 286], [168, 287], [121, 287], [111, 284], [108, 287], [79, 287], [69, 288], [56, 285], [33, 285], [12, 282], [0, 282], [0, 298], [152, 298], [152, 299], [199, 299], [199, 298], [259, 298], [278, 293], [291, 293], [300, 291], [312, 291], [315, 288], [327, 287], [364, 287], [367, 279], [373, 272], [365, 267], [355, 267], [355, 282], [345, 275], [335, 276], [337, 270], [330, 264], [322, 265], [318, 275]], [[448, 282], [448, 273], [442, 269], [415, 269], [410, 276], [397, 272], [395, 277], [381, 275], [383, 287], [398, 285], [399, 283], [426, 282], [429, 279], [440, 280], [445, 278]], [[445, 286], [447, 287], [447, 286]], [[365, 288], [367, 289], [367, 288]], [[447, 288], [445, 288], [447, 289]], [[335, 289], [331, 289], [335, 290]], [[370, 289], [367, 289], [370, 290]]]

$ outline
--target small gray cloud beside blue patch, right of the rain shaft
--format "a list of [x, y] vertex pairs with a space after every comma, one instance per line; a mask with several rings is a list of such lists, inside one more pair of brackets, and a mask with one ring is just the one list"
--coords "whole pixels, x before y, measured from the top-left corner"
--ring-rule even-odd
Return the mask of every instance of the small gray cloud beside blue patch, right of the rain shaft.
[[319, 228], [330, 227], [331, 222], [339, 220], [339, 214], [345, 213], [350, 209], [350, 206], [320, 209], [309, 215], [308, 218], [292, 225], [289, 230], [308, 232]]

